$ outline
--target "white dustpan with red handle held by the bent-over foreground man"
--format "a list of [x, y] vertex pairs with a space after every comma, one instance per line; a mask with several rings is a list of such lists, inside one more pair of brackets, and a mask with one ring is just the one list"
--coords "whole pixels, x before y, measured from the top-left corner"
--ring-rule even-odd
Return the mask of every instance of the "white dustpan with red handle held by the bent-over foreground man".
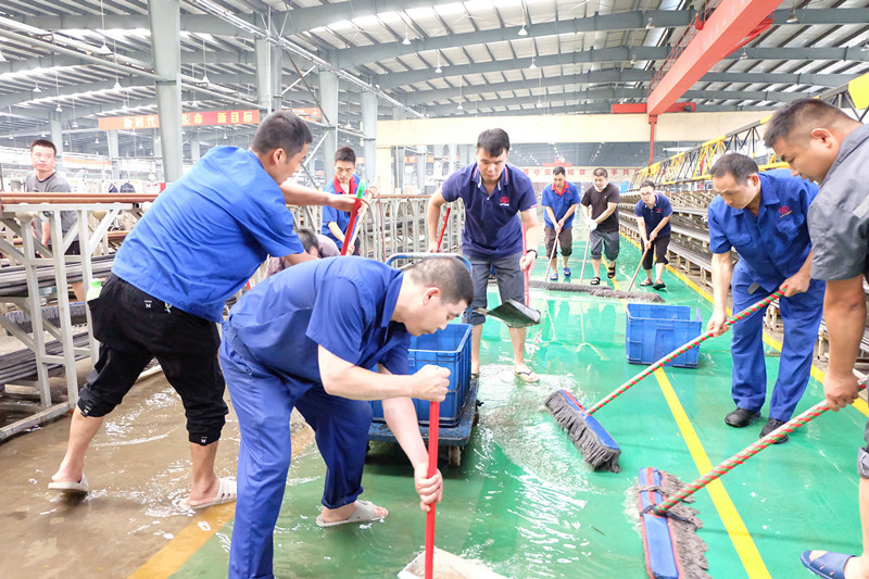
[[[438, 430], [441, 405], [429, 403], [428, 471], [429, 478], [438, 471]], [[434, 547], [434, 513], [437, 503], [429, 505], [426, 514], [426, 549], [399, 571], [399, 579], [505, 579], [482, 565], [463, 559]]]

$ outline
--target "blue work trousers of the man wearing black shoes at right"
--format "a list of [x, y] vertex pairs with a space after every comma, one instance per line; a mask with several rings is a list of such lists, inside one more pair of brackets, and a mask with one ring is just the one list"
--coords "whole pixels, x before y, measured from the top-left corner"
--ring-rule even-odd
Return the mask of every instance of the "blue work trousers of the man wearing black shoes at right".
[[[748, 293], [752, 284], [752, 279], [741, 274], [736, 267], [730, 288], [733, 294], [734, 314], [771, 293], [759, 287], [754, 293]], [[813, 279], [808, 291], [790, 298], [779, 298], [784, 339], [779, 376], [769, 401], [770, 418], [789, 420], [806, 390], [815, 341], [818, 338], [818, 326], [823, 313], [826, 287], [823, 281]], [[764, 312], [766, 307], [736, 322], [733, 325], [731, 342], [733, 402], [736, 406], [753, 412], [760, 411], [767, 395], [767, 367], [763, 340]]]

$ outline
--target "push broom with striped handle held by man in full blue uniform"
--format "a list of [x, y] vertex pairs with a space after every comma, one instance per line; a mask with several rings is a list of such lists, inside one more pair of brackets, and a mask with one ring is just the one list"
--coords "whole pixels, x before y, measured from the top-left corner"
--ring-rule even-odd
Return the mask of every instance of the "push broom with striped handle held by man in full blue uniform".
[[[766, 307], [773, 300], [777, 300], [784, 293], [784, 289], [780, 289], [774, 293], [770, 293], [757, 303], [754, 303], [734, 314], [727, 322], [725, 326], [732, 326], [740, 319], [752, 315], [758, 310]], [[707, 331], [684, 345], [680, 345], [666, 356], [662, 357], [646, 369], [619, 386], [616, 390], [609, 393], [606, 398], [597, 402], [591, 408], [584, 408], [582, 404], [567, 390], [556, 390], [550, 398], [546, 399], [546, 407], [552, 412], [552, 415], [558, 424], [567, 430], [567, 433], [574, 440], [576, 445], [582, 452], [582, 456], [595, 469], [605, 468], [612, 473], [621, 470], [618, 466], [618, 457], [621, 454], [621, 449], [618, 443], [609, 436], [606, 429], [601, 426], [601, 423], [592, 416], [595, 412], [601, 410], [606, 404], [614, 401], [616, 398], [628, 391], [635, 386], [640, 380], [653, 374], [656, 369], [663, 367], [668, 362], [672, 361], [680, 354], [683, 354], [696, 347], [701, 342], [711, 338], [713, 332]]]

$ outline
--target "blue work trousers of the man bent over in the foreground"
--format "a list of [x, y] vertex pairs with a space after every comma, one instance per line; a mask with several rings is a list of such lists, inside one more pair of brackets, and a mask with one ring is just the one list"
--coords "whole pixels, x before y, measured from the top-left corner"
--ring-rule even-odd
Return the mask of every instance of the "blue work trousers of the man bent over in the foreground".
[[229, 578], [272, 578], [273, 533], [292, 457], [293, 406], [314, 429], [326, 462], [323, 504], [329, 508], [350, 504], [362, 493], [371, 407], [328, 394], [320, 383], [269, 372], [226, 326], [221, 365], [241, 431]]

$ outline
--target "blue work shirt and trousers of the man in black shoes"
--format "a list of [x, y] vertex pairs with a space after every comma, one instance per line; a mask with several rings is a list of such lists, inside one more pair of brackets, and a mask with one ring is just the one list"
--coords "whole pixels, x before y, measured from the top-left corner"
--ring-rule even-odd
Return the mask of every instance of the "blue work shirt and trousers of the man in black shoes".
[[[734, 313], [779, 289], [799, 270], [811, 250], [807, 215], [817, 185], [790, 172], [771, 173], [760, 174], [756, 217], [747, 209], [728, 206], [720, 197], [709, 204], [709, 250], [729, 253], [733, 248], [740, 255], [730, 285]], [[807, 291], [779, 299], [784, 339], [770, 418], [789, 420], [806, 389], [824, 290], [823, 281], [813, 279]], [[760, 411], [767, 391], [763, 324], [764, 311], [736, 322], [731, 341], [733, 401], [752, 412]]]

